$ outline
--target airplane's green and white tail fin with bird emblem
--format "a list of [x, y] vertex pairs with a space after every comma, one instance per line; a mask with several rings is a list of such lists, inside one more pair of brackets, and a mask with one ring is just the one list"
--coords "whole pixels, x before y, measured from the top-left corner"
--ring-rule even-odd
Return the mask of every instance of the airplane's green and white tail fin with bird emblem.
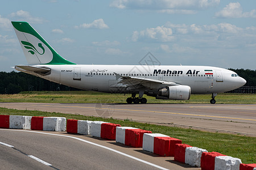
[[75, 65], [61, 57], [27, 22], [11, 22], [28, 64]]

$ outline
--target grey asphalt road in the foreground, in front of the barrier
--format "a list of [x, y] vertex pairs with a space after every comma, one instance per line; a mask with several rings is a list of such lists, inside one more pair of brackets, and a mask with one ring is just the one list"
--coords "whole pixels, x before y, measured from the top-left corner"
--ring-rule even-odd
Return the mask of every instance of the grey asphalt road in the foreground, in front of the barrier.
[[64, 132], [0, 129], [0, 142], [0, 169], [200, 169], [142, 148]]

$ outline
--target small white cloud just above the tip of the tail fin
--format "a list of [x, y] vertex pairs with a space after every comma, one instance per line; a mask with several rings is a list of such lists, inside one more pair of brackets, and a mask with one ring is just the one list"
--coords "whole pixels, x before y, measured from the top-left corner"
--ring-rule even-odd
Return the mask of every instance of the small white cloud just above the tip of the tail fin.
[[19, 11], [11, 13], [10, 17], [11, 18], [17, 18], [19, 20], [24, 20], [24, 21], [29, 22], [29, 23], [40, 23], [40, 24], [42, 24], [43, 22], [45, 22], [44, 19], [38, 18], [38, 17], [33, 17], [33, 16], [30, 15], [30, 12], [23, 11], [23, 10], [19, 10]]

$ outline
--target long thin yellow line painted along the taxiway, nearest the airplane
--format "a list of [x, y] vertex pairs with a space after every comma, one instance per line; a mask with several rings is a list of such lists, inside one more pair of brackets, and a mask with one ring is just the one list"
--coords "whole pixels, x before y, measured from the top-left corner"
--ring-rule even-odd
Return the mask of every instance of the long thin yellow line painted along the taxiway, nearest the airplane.
[[[51, 107], [52, 105], [44, 105]], [[233, 118], [233, 117], [221, 117], [221, 116], [206, 116], [200, 114], [187, 114], [187, 113], [172, 113], [172, 112], [159, 112], [159, 111], [141, 111], [141, 110], [133, 110], [133, 109], [115, 109], [115, 108], [96, 108], [96, 107], [76, 107], [76, 106], [66, 106], [66, 105], [57, 105], [55, 107], [70, 107], [70, 108], [88, 108], [88, 109], [105, 109], [105, 110], [116, 110], [116, 111], [135, 111], [135, 112], [151, 112], [151, 113], [167, 113], [167, 114], [179, 114], [179, 115], [187, 115], [187, 116], [200, 116], [200, 117], [214, 117], [214, 118], [229, 118], [234, 120], [249, 120], [256, 121], [253, 119], [246, 118]]]

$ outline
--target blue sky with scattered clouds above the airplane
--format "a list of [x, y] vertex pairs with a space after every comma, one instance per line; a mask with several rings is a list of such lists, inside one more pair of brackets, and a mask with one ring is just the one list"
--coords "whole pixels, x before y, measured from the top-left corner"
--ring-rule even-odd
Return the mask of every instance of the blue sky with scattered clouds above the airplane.
[[11, 21], [28, 22], [78, 64], [256, 69], [256, 1], [10, 0], [0, 6], [0, 71], [27, 61]]

